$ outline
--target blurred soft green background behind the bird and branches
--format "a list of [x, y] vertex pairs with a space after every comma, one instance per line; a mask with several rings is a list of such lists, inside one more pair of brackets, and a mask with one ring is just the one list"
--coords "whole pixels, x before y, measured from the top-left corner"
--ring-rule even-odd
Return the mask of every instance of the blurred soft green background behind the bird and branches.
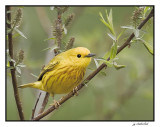
[[[12, 8], [13, 13], [17, 8]], [[87, 47], [97, 57], [102, 57], [112, 45], [108, 30], [99, 16], [99, 12], [105, 15], [106, 9], [112, 9], [116, 33], [122, 30], [120, 26], [131, 24], [130, 17], [135, 7], [70, 7], [62, 19], [71, 13], [75, 17], [63, 42], [75, 37], [74, 47]], [[56, 11], [50, 10], [50, 7], [23, 7], [19, 29], [27, 39], [21, 36], [13, 39], [15, 55], [20, 49], [24, 50], [25, 55], [23, 63], [26, 67], [17, 77], [18, 85], [36, 81], [31, 73], [39, 75], [41, 67], [52, 59], [53, 52], [43, 49], [52, 45], [52, 41], [44, 40], [51, 37], [55, 19]], [[144, 40], [153, 44], [153, 21], [146, 31]], [[127, 30], [122, 38], [128, 37], [130, 33]], [[124, 41], [121, 39], [119, 45]], [[106, 76], [101, 73], [96, 75], [80, 91], [79, 96], [71, 98], [43, 120], [153, 120], [153, 56], [142, 43], [134, 43], [118, 54], [118, 58], [118, 63], [126, 65], [126, 68], [103, 70]], [[93, 60], [89, 67], [96, 69]], [[87, 69], [86, 76], [91, 72]], [[19, 120], [9, 71], [6, 85], [7, 120]], [[32, 88], [19, 91], [25, 119], [30, 120], [39, 91]], [[61, 96], [56, 95], [55, 99]]]

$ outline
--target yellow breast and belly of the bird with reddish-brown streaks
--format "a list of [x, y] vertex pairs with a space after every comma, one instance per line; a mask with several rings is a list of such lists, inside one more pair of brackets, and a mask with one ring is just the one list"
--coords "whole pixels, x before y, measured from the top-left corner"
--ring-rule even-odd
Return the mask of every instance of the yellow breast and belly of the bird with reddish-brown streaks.
[[44, 75], [43, 88], [53, 94], [68, 93], [82, 81], [85, 71], [75, 66], [58, 67]]

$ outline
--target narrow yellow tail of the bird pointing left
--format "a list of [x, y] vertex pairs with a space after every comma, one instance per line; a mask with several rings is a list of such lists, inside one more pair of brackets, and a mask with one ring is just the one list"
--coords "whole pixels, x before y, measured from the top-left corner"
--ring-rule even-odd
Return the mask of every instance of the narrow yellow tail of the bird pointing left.
[[37, 88], [37, 89], [42, 89], [42, 85], [40, 81], [37, 82], [33, 82], [33, 83], [28, 83], [28, 84], [23, 84], [18, 86], [18, 88], [27, 88], [27, 87], [31, 87], [31, 88]]

